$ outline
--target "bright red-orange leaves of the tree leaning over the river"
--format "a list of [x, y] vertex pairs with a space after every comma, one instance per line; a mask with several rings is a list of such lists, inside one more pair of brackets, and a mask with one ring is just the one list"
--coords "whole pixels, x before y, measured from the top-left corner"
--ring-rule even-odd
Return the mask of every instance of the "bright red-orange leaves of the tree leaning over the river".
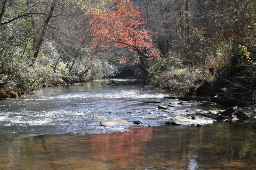
[[133, 8], [132, 2], [117, 0], [114, 4], [116, 11], [91, 14], [91, 49], [100, 53], [114, 43], [118, 48], [129, 49], [134, 56], [159, 56], [151, 32], [143, 27], [142, 11]]

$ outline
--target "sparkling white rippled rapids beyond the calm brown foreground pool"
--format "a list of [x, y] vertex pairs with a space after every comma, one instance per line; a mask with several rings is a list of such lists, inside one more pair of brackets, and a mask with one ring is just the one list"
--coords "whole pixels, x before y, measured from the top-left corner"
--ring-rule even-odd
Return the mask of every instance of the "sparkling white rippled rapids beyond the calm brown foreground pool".
[[[74, 86], [43, 88], [30, 96], [0, 101], [1, 133], [94, 134], [129, 131], [133, 121], [142, 126], [163, 125], [177, 115], [198, 110], [221, 109], [220, 106], [164, 99], [167, 91], [141, 86], [109, 86], [94, 81]], [[159, 100], [161, 104], [143, 103]], [[158, 105], [169, 105], [159, 111]], [[96, 116], [121, 118], [131, 125], [104, 127]], [[141, 126], [140, 125], [140, 126]]]

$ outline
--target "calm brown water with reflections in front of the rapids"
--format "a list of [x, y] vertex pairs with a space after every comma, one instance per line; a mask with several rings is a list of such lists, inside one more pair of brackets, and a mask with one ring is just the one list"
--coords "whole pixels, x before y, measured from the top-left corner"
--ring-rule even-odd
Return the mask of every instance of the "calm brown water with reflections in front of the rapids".
[[1, 169], [255, 169], [254, 124], [111, 134], [0, 134]]

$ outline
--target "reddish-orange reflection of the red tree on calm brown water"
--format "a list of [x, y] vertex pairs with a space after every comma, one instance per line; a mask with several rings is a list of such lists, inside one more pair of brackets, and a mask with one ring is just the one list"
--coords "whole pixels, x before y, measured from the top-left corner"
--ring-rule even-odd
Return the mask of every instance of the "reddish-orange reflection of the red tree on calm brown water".
[[113, 168], [137, 165], [145, 151], [145, 145], [151, 141], [153, 130], [152, 128], [133, 128], [131, 130], [133, 132], [97, 134], [91, 140], [90, 159], [102, 166], [115, 165]]

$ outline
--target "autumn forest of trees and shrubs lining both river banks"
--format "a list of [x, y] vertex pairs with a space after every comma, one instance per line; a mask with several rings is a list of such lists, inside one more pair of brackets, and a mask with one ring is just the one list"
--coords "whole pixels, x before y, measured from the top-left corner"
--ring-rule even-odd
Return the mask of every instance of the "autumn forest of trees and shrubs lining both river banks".
[[0, 98], [138, 77], [178, 96], [255, 105], [255, 0], [0, 3]]

